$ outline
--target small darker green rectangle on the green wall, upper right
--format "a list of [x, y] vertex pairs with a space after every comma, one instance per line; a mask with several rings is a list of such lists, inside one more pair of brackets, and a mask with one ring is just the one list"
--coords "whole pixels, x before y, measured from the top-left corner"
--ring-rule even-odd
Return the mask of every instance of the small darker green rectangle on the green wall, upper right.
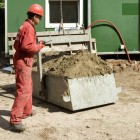
[[138, 3], [123, 3], [122, 15], [138, 15]]

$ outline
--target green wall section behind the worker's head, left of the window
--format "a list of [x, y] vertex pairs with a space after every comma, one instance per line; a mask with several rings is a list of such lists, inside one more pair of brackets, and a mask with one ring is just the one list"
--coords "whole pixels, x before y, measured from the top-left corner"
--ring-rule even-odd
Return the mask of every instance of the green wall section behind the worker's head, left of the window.
[[[17, 32], [21, 24], [27, 19], [27, 11], [30, 5], [38, 3], [45, 6], [45, 0], [8, 0], [8, 32]], [[37, 31], [45, 30], [45, 20], [42, 18]]]

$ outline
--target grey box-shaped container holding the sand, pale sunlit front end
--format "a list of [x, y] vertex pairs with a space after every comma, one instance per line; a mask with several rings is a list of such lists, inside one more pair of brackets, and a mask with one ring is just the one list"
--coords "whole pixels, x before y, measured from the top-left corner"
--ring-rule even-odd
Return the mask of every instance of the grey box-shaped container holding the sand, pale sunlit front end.
[[118, 99], [113, 74], [69, 79], [44, 75], [40, 84], [33, 73], [33, 96], [75, 111], [110, 103]]

